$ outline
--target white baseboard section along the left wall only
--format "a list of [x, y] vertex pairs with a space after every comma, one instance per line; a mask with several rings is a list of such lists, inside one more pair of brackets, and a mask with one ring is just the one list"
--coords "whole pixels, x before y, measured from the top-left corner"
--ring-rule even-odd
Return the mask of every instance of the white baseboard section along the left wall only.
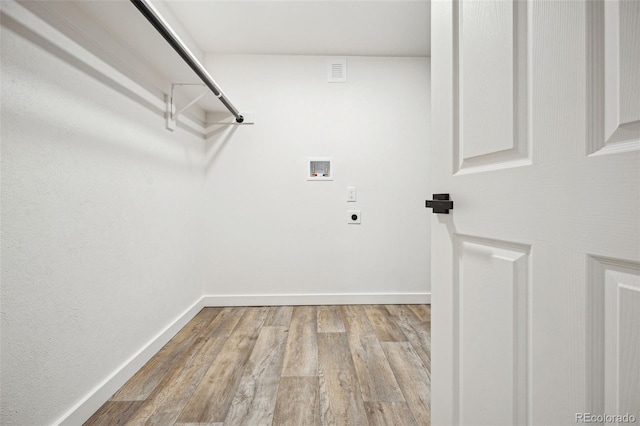
[[96, 386], [69, 411], [55, 422], [56, 425], [81, 425], [98, 411], [111, 396], [142, 368], [178, 331], [204, 307], [202, 298], [180, 314], [171, 324], [154, 336], [135, 355], [124, 362], [116, 371]]

